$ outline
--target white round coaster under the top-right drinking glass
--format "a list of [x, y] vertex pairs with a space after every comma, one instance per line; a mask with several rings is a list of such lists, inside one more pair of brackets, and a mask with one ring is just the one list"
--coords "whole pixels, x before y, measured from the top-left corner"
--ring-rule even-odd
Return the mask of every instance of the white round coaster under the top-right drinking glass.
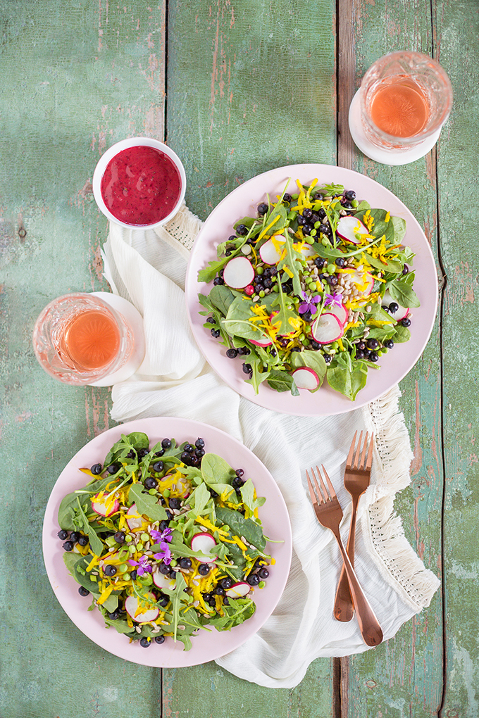
[[366, 137], [363, 130], [359, 90], [355, 93], [349, 108], [349, 131], [354, 140], [354, 144], [358, 149], [361, 149], [363, 154], [366, 154], [366, 157], [373, 159], [375, 162], [390, 165], [416, 162], [417, 159], [424, 157], [424, 155], [432, 150], [441, 134], [441, 130], [439, 129], [430, 137], [419, 142], [416, 146], [411, 147], [411, 149], [381, 149], [381, 147], [376, 146]]

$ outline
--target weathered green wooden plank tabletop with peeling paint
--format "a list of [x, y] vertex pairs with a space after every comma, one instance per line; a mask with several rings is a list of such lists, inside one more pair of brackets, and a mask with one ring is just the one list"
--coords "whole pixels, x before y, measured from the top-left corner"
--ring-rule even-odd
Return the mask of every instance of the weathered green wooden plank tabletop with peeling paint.
[[[4, 0], [0, 13], [1, 718], [479, 716], [476, 0]], [[355, 150], [348, 105], [371, 62], [404, 48], [440, 60], [455, 105], [434, 151], [385, 167]], [[32, 327], [50, 299], [107, 289], [91, 178], [104, 149], [141, 134], [180, 154], [200, 218], [266, 169], [340, 164], [398, 195], [437, 259], [437, 321], [401, 383], [414, 463], [396, 509], [442, 589], [394, 640], [317, 660], [291, 691], [215, 663], [121, 661], [70, 623], [43, 567], [52, 485], [112, 422], [107, 389], [39, 368]]]

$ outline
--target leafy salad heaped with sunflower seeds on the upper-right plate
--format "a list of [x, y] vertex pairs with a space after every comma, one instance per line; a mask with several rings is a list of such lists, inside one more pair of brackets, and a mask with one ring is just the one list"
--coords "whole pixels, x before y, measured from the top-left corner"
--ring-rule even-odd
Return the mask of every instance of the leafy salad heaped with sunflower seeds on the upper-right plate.
[[354, 400], [381, 355], [411, 336], [419, 300], [406, 222], [343, 185], [287, 187], [218, 243], [198, 273], [213, 282], [200, 313], [256, 393], [266, 382], [298, 396], [326, 381]]

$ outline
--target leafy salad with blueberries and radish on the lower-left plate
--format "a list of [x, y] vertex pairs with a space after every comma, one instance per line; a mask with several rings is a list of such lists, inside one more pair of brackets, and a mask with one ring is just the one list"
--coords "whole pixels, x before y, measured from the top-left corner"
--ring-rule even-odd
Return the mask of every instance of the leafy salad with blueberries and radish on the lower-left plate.
[[58, 536], [78, 592], [108, 628], [144, 648], [169, 637], [189, 650], [198, 630], [254, 614], [274, 559], [258, 518], [264, 498], [242, 469], [206, 453], [203, 439], [150, 448], [136, 432], [81, 470], [90, 480], [62, 500]]

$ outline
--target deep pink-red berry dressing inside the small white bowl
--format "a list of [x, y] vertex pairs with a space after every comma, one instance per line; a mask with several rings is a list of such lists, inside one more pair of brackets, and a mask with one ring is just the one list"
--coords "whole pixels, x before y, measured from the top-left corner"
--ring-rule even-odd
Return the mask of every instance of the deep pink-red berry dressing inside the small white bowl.
[[101, 196], [117, 220], [150, 225], [164, 219], [181, 193], [175, 163], [154, 147], [129, 147], [108, 162], [101, 178]]

